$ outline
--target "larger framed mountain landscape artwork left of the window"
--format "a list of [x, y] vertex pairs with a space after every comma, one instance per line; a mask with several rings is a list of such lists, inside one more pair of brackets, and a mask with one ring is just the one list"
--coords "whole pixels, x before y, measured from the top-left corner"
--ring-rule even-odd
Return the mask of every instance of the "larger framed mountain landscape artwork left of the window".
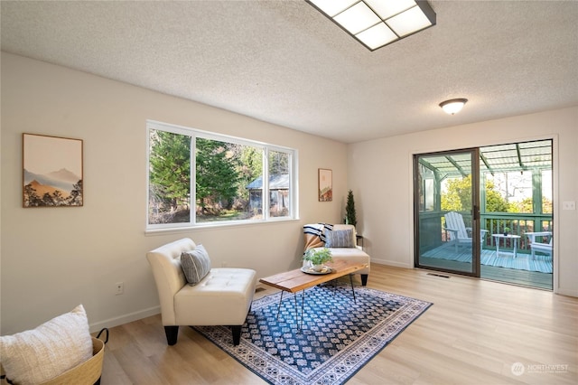
[[23, 207], [82, 206], [82, 140], [23, 134]]

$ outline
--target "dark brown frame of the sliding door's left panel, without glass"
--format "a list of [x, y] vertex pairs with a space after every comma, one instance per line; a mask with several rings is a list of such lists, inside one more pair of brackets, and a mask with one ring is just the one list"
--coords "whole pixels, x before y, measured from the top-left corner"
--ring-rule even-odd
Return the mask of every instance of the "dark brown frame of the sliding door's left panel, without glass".
[[[469, 154], [471, 159], [471, 219], [472, 219], [472, 237], [471, 237], [471, 271], [455, 270], [452, 268], [438, 268], [427, 266], [420, 263], [420, 178], [419, 178], [419, 159], [425, 156], [449, 156]], [[424, 153], [414, 155], [414, 266], [415, 268], [426, 268], [435, 271], [443, 271], [452, 274], [460, 274], [470, 277], [480, 277], [480, 149], [478, 147], [448, 150], [434, 153]], [[437, 192], [434, 199], [435, 209], [442, 218], [441, 209], [441, 192]]]

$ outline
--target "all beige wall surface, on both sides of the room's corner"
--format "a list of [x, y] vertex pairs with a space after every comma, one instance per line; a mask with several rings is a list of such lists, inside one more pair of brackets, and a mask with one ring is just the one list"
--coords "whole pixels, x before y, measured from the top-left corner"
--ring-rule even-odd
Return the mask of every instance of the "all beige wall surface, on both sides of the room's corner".
[[[555, 179], [557, 289], [578, 295], [576, 211], [559, 210], [562, 201], [578, 201], [578, 108], [348, 147], [4, 52], [1, 80], [2, 334], [34, 327], [79, 303], [87, 308], [92, 330], [158, 313], [144, 254], [173, 239], [203, 243], [215, 267], [227, 262], [255, 268], [259, 277], [296, 267], [303, 223], [340, 221], [349, 188], [373, 260], [409, 268], [412, 154], [545, 137], [555, 138], [560, 175]], [[298, 149], [300, 220], [145, 235], [146, 119]], [[23, 132], [84, 140], [84, 207], [22, 208]], [[333, 170], [333, 202], [317, 202], [318, 168]], [[115, 296], [119, 281], [125, 294]]]

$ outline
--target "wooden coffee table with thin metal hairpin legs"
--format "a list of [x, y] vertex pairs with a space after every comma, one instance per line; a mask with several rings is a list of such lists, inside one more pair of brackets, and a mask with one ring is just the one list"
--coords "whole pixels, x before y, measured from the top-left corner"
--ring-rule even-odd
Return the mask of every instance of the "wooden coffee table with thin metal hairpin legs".
[[[348, 274], [355, 273], [358, 270], [367, 268], [368, 265], [365, 263], [350, 262], [346, 260], [338, 260], [335, 262], [327, 263], [326, 266], [331, 268], [331, 273], [327, 274], [307, 274], [304, 273], [301, 268], [296, 268], [291, 271], [286, 271], [284, 273], [275, 274], [271, 277], [265, 277], [259, 279], [259, 282], [267, 285], [273, 286], [281, 289], [281, 298], [279, 299], [279, 305], [277, 307], [277, 318], [279, 317], [279, 311], [281, 309], [281, 302], [283, 301], [283, 293], [293, 293], [295, 299], [295, 318], [297, 319], [297, 326], [301, 329], [300, 317], [297, 305], [297, 292], [303, 291], [301, 297], [301, 321], [303, 322], [303, 304], [305, 300], [305, 289], [312, 286], [317, 286], [325, 282], [332, 281]], [[350, 277], [351, 292], [353, 293], [353, 300], [355, 300], [355, 290], [353, 288], [353, 280]]]

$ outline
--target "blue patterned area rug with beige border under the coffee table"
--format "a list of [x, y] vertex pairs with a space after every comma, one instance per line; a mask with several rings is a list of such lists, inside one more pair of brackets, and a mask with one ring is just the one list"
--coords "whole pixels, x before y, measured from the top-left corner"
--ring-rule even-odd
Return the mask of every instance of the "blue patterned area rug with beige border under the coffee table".
[[[350, 286], [315, 286], [253, 302], [241, 342], [224, 326], [194, 329], [271, 384], [342, 384], [431, 305], [418, 299]], [[295, 314], [299, 312], [299, 317]]]

